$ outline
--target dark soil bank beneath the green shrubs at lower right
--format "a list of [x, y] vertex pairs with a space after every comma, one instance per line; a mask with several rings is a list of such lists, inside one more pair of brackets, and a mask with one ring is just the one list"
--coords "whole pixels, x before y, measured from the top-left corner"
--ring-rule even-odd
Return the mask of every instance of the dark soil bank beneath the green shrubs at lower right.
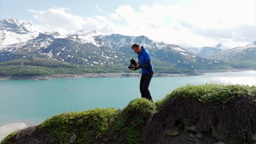
[[[191, 98], [170, 98], [143, 128], [141, 143], [187, 143], [186, 138], [183, 141], [184, 136], [166, 135], [168, 129], [177, 125], [194, 125], [194, 131], [208, 134], [190, 143], [216, 143], [220, 140], [252, 143], [251, 136], [256, 132], [256, 103], [253, 99], [241, 97], [225, 104], [203, 104]], [[189, 135], [193, 138], [191, 133]]]

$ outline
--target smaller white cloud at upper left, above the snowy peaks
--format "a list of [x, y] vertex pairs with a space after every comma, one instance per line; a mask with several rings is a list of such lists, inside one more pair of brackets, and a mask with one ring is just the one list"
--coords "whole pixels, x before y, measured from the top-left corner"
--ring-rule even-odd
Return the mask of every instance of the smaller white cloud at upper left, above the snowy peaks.
[[83, 28], [84, 19], [80, 16], [71, 15], [66, 12], [69, 8], [53, 8], [43, 11], [27, 10], [34, 14], [39, 22], [49, 31], [58, 31], [62, 34], [79, 31]]

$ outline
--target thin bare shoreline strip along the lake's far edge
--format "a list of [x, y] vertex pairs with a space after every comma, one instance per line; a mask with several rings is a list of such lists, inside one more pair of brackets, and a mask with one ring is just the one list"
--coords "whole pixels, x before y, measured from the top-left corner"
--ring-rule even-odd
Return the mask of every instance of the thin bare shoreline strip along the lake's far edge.
[[[228, 70], [197, 70], [195, 73], [154, 73], [154, 77], [171, 77], [171, 76], [195, 76], [203, 75], [203, 73], [221, 73], [221, 72], [236, 72], [255, 69], [228, 69]], [[88, 74], [54, 74], [42, 76], [0, 76], [0, 80], [53, 80], [53, 79], [80, 79], [92, 77], [138, 77], [140, 73], [88, 73]]]

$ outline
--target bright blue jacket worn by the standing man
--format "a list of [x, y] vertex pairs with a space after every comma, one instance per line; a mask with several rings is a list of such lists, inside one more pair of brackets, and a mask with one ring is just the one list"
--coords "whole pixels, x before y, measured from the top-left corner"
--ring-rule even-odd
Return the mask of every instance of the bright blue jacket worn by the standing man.
[[142, 74], [154, 73], [152, 60], [149, 52], [141, 47], [141, 52], [138, 53], [139, 68], [142, 69]]

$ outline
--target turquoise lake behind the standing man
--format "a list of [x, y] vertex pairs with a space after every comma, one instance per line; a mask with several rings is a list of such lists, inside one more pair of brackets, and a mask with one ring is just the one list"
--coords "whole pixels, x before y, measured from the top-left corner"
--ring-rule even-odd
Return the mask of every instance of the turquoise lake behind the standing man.
[[[123, 109], [140, 98], [140, 77], [0, 81], [0, 126], [36, 125], [54, 115], [114, 107]], [[256, 71], [206, 73], [200, 76], [153, 77], [149, 90], [160, 100], [174, 88], [203, 83], [256, 85]]]

